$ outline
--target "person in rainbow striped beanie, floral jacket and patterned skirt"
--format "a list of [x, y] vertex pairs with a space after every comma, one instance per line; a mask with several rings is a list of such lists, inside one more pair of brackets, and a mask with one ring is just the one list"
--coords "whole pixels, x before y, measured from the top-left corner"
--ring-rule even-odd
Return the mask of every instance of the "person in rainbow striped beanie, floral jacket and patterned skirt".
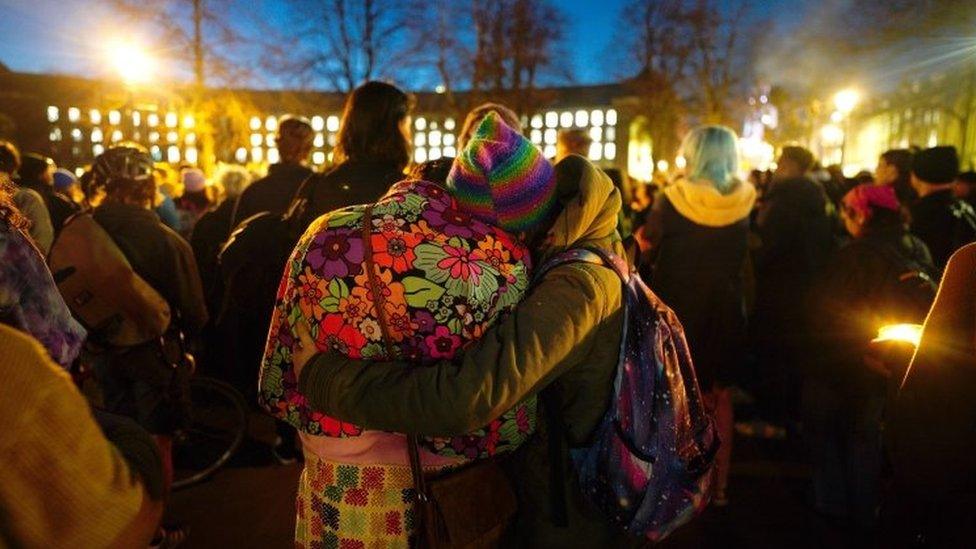
[[[528, 288], [531, 257], [521, 238], [551, 223], [555, 194], [549, 162], [491, 114], [455, 161], [447, 188], [402, 181], [376, 203], [320, 217], [300, 239], [280, 285], [259, 382], [261, 404], [302, 438], [296, 545], [337, 536], [406, 546], [415, 534], [402, 497], [412, 482], [404, 436], [308, 409], [290, 359], [299, 332], [311, 330], [318, 348], [346, 357], [409, 357], [419, 365], [453, 358]], [[437, 470], [508, 454], [534, 423], [529, 398], [468, 433], [423, 439], [419, 459]], [[336, 468], [385, 480], [350, 486], [334, 478]], [[360, 498], [369, 504], [355, 503]], [[363, 531], [356, 517], [364, 513], [399, 526]]]

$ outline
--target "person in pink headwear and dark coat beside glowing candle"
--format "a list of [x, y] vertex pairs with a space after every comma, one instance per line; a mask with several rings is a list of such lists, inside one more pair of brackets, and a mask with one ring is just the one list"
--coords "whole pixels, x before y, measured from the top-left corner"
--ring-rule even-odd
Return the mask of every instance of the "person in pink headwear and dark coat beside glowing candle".
[[924, 318], [927, 309], [900, 310], [892, 292], [905, 290], [899, 280], [907, 273], [931, 281], [935, 269], [925, 243], [906, 230], [893, 186], [855, 187], [841, 213], [853, 239], [833, 255], [815, 291], [817, 354], [803, 388], [803, 425], [815, 508], [868, 535], [879, 504], [888, 380], [864, 357], [880, 327]]

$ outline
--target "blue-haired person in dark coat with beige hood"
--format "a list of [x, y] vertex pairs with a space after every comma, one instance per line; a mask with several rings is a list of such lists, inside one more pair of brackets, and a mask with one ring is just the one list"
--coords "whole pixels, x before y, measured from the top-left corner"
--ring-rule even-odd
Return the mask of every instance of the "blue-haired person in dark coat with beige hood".
[[656, 253], [651, 287], [681, 320], [721, 447], [712, 501], [727, 503], [732, 457], [729, 371], [745, 349], [742, 290], [749, 214], [756, 189], [736, 178], [736, 135], [722, 126], [693, 130], [682, 145], [688, 177], [664, 189], [650, 214]]

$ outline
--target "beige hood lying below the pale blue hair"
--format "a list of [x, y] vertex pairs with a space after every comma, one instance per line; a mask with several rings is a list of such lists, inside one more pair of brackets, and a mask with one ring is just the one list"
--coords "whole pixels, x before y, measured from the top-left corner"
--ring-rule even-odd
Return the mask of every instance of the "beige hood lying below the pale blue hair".
[[748, 217], [756, 203], [756, 188], [736, 181], [728, 194], [710, 183], [679, 181], [664, 189], [674, 209], [691, 221], [706, 227], [725, 227]]

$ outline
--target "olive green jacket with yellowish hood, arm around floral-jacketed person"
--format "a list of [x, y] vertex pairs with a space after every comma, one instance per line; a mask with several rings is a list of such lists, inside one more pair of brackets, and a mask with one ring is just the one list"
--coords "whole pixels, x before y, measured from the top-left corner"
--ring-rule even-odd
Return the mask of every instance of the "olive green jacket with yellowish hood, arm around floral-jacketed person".
[[[621, 253], [620, 194], [589, 162], [556, 166], [564, 206], [542, 247], [541, 265], [572, 247]], [[550, 492], [545, 407], [539, 430], [506, 463], [519, 495], [517, 543], [529, 547], [605, 547], [619, 534], [583, 501], [566, 442], [584, 445], [609, 404], [618, 361], [622, 284], [611, 269], [573, 263], [549, 271], [508, 318], [454, 362], [411, 369], [320, 354], [299, 386], [310, 404], [370, 429], [427, 435], [480, 428], [543, 389], [559, 394], [568, 526], [557, 526]], [[546, 398], [546, 395], [543, 395]], [[515, 541], [515, 540], [513, 540]]]

